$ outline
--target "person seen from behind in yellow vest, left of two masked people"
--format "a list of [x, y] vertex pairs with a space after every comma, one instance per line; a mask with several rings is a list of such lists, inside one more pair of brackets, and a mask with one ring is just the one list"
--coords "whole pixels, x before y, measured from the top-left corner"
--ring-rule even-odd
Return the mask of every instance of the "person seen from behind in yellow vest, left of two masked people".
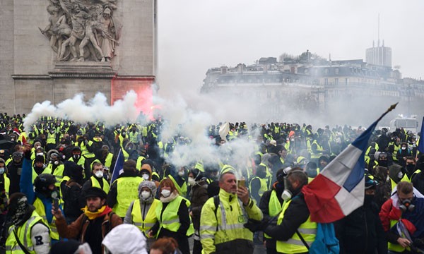
[[129, 159], [124, 162], [124, 172], [110, 186], [107, 194], [107, 205], [124, 218], [129, 205], [133, 200], [139, 198], [137, 188], [143, 179], [136, 171], [136, 162]]

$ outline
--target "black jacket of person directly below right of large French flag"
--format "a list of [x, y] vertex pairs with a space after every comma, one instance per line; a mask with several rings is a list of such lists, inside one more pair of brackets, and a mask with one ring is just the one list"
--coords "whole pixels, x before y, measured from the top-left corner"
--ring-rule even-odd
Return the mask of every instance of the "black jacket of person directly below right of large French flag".
[[359, 207], [335, 223], [340, 253], [387, 253], [379, 208], [375, 202]]

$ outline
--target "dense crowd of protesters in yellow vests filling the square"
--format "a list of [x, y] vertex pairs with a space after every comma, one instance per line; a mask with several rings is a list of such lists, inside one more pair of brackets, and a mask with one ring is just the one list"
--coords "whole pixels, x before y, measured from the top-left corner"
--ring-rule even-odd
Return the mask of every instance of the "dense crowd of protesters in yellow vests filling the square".
[[[266, 253], [307, 253], [314, 233], [302, 231], [316, 232], [316, 224], [300, 190], [365, 131], [219, 123], [204, 133], [216, 161], [191, 158], [181, 167], [172, 154], [192, 140], [182, 133], [163, 139], [161, 118], [110, 127], [42, 116], [29, 130], [23, 119], [0, 114], [7, 253], [253, 253], [259, 244]], [[341, 253], [424, 248], [418, 137], [404, 129], [372, 134], [364, 205], [334, 223]], [[242, 139], [255, 148], [240, 163], [230, 144]], [[122, 171], [111, 181], [120, 153]]]

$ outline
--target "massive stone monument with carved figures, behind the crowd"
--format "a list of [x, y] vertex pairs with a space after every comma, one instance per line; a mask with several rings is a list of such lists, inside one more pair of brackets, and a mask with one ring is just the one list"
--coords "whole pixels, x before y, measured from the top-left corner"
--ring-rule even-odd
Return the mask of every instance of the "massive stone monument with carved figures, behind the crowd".
[[113, 103], [134, 90], [151, 101], [156, 13], [155, 0], [0, 1], [0, 111], [80, 92]]

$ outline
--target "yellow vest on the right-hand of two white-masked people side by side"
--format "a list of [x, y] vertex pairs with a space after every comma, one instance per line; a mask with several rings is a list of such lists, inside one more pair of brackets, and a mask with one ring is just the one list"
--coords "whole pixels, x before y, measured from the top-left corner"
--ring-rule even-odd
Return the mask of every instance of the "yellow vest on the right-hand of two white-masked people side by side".
[[[182, 198], [181, 195], [178, 195], [177, 198], [167, 204], [163, 212], [163, 203], [159, 202], [158, 207], [156, 207], [155, 210], [156, 217], [158, 218], [160, 225], [158, 234], [160, 233], [160, 229], [167, 229], [172, 232], [178, 231], [179, 226], [181, 226], [181, 223], [179, 223], [178, 215], [179, 205], [181, 205], [181, 202], [186, 202], [187, 207], [190, 206], [189, 200]], [[191, 236], [192, 234], [194, 234], [194, 227], [192, 219], [190, 218], [190, 226], [189, 229], [187, 229], [186, 236]]]

